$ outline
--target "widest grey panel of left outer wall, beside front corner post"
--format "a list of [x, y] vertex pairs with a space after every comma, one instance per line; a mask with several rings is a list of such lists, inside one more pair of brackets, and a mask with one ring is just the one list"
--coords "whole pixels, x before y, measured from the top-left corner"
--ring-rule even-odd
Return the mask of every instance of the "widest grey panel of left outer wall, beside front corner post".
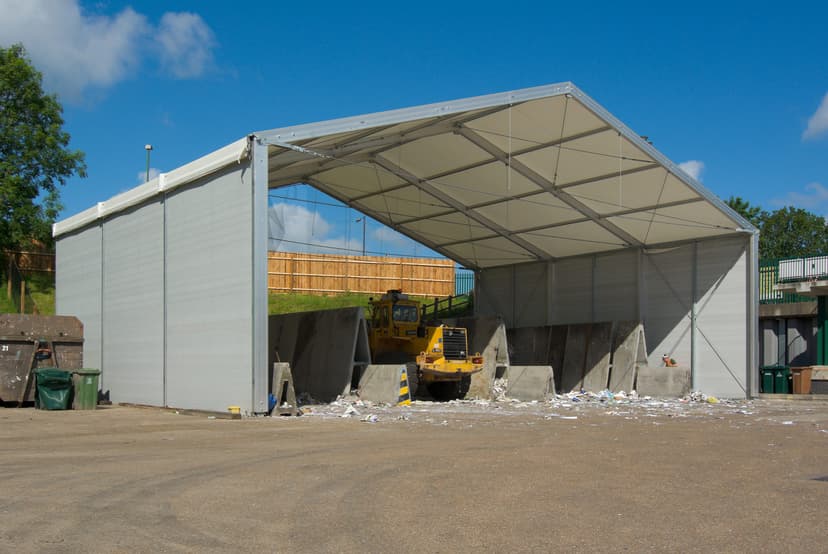
[[167, 198], [167, 404], [252, 402], [252, 184], [239, 167]]

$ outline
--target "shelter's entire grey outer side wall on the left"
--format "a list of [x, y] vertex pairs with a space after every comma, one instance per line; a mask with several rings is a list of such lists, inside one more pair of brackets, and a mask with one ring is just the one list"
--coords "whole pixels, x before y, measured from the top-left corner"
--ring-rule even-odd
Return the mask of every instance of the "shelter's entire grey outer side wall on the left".
[[260, 411], [252, 173], [235, 165], [58, 237], [57, 312], [84, 324], [85, 365], [113, 401]]

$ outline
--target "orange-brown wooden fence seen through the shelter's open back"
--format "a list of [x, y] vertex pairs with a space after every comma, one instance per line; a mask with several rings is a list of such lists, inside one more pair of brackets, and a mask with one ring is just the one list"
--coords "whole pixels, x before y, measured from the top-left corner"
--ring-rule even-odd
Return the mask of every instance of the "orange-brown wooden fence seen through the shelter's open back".
[[270, 292], [381, 294], [402, 289], [417, 296], [454, 294], [451, 260], [270, 252], [267, 271]]

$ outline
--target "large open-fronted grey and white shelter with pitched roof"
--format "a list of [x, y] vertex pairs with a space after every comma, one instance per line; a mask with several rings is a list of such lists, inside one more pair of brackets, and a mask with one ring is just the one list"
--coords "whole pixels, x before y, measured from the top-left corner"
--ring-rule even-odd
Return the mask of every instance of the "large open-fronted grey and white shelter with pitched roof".
[[757, 232], [571, 83], [260, 131], [57, 223], [57, 310], [113, 400], [267, 402], [267, 193], [307, 183], [473, 268], [478, 315], [644, 322], [756, 392]]

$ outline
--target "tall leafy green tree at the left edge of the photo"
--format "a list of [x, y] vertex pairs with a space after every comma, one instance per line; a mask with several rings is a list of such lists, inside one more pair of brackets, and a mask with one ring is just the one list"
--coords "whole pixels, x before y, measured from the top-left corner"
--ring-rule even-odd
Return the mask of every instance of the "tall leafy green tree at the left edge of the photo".
[[42, 79], [22, 45], [0, 47], [0, 250], [51, 244], [63, 207], [58, 186], [86, 176], [84, 154], [68, 148], [63, 108]]

